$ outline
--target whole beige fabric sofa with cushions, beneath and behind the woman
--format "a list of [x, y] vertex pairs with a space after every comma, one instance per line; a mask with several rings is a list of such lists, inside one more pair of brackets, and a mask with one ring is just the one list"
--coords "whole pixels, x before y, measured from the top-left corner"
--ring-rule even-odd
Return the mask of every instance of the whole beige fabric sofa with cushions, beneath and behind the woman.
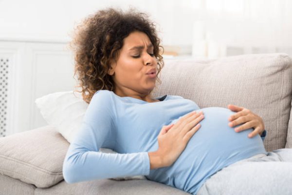
[[[267, 151], [292, 147], [292, 59], [286, 54], [213, 60], [165, 60], [155, 96], [179, 95], [200, 108], [235, 104], [263, 118]], [[149, 181], [111, 179], [68, 184], [62, 164], [69, 143], [52, 126], [0, 138], [0, 195], [183, 195]]]

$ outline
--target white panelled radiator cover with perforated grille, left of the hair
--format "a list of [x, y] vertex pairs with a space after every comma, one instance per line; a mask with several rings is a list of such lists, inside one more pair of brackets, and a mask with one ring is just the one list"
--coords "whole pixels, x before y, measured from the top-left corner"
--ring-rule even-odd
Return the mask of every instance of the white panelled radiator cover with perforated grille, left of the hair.
[[36, 98], [74, 90], [67, 47], [66, 41], [0, 39], [0, 137], [47, 125]]

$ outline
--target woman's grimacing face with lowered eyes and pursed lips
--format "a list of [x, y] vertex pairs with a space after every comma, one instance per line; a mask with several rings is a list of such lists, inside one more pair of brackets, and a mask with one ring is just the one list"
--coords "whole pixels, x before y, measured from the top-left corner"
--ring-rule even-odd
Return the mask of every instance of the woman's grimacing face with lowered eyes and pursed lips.
[[[124, 96], [147, 96], [155, 87], [157, 78], [157, 61], [153, 55], [153, 45], [148, 36], [134, 31], [126, 37], [120, 49], [119, 58], [111, 64], [114, 93]], [[146, 73], [155, 69], [156, 74]]]

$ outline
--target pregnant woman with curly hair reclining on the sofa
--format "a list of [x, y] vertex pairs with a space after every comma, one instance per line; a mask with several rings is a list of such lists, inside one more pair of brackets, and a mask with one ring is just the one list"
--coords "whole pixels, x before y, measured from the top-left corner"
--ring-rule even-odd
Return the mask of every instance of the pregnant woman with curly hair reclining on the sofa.
[[193, 195], [292, 193], [292, 151], [265, 151], [256, 114], [152, 97], [164, 63], [145, 14], [100, 10], [72, 43], [89, 106], [64, 160], [66, 182], [145, 175]]

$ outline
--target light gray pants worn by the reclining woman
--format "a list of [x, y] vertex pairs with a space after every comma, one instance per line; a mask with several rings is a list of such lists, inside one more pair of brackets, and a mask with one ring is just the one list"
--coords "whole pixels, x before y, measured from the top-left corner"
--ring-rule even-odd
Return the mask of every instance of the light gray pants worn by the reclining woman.
[[198, 195], [292, 195], [292, 148], [231, 164], [208, 178]]

